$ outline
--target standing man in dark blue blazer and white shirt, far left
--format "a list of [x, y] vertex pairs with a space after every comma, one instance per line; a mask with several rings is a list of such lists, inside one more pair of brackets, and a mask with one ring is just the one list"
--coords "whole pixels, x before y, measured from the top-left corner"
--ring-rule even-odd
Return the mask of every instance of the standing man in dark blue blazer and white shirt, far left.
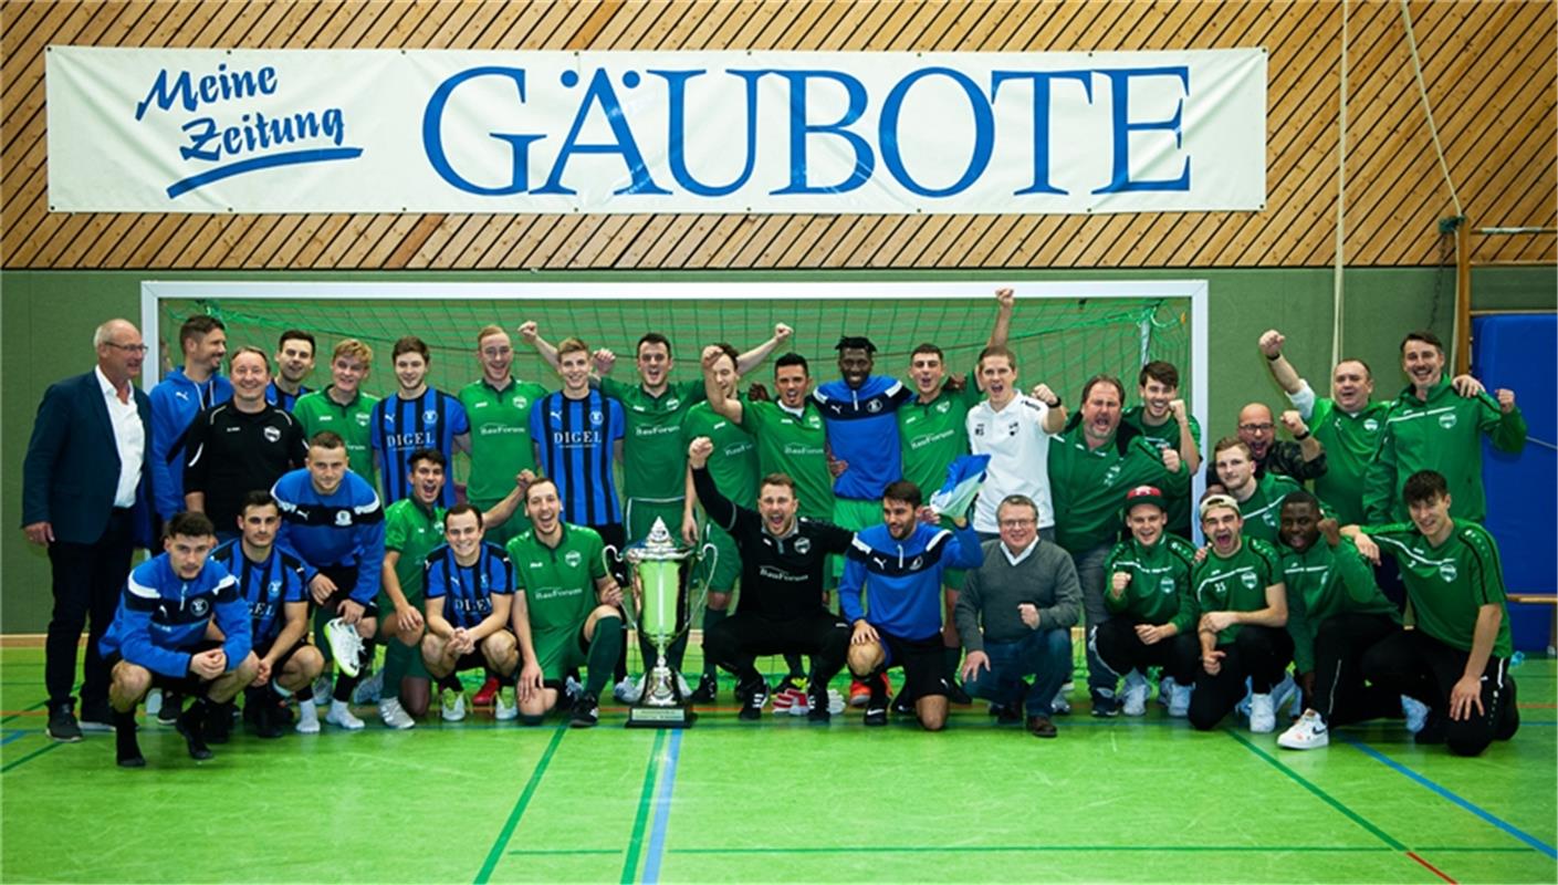
[[[81, 740], [83, 728], [114, 728], [98, 640], [114, 620], [132, 550], [151, 542], [151, 400], [131, 386], [146, 346], [125, 319], [98, 326], [92, 346], [97, 368], [44, 394], [22, 464], [22, 531], [48, 548], [53, 567], [44, 684], [48, 735], [64, 742]], [[78, 725], [70, 692], [89, 617]]]

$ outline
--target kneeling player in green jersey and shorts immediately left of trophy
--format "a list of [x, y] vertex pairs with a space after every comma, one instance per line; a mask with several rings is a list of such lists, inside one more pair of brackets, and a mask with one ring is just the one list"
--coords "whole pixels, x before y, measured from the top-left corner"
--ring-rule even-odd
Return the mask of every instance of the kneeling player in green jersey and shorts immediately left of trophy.
[[514, 634], [525, 658], [519, 673], [523, 725], [541, 725], [564, 695], [564, 678], [586, 667], [572, 700], [573, 728], [598, 720], [598, 698], [622, 654], [622, 587], [606, 570], [605, 542], [592, 528], [562, 522], [558, 485], [525, 489], [530, 531], [508, 542], [514, 562]]

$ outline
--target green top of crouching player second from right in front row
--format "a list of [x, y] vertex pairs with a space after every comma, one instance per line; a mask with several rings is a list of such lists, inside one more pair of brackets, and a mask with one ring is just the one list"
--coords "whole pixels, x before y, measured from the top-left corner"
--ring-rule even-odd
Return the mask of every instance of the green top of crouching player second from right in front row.
[[1287, 586], [1287, 633], [1293, 637], [1293, 667], [1315, 668], [1315, 633], [1338, 614], [1382, 614], [1401, 623], [1396, 605], [1374, 583], [1374, 569], [1346, 538], [1331, 547], [1324, 538], [1299, 553], [1281, 547]]

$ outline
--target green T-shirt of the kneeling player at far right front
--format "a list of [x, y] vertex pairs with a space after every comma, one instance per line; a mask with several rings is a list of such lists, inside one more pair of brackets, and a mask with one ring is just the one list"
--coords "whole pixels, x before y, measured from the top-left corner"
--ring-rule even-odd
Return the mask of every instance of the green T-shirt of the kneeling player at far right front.
[[1469, 519], [1454, 522], [1455, 530], [1438, 547], [1429, 544], [1412, 524], [1376, 525], [1363, 531], [1379, 542], [1382, 552], [1396, 556], [1418, 629], [1444, 645], [1471, 651], [1477, 609], [1496, 605], [1502, 617], [1493, 654], [1508, 658], [1513, 647], [1499, 545], [1482, 525]]

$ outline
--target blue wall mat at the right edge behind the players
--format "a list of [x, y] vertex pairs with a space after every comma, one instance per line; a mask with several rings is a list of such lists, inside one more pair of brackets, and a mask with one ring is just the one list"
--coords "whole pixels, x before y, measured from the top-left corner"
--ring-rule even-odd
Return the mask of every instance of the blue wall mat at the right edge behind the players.
[[[1510, 388], [1530, 436], [1519, 455], [1483, 441], [1488, 530], [1499, 539], [1510, 592], [1558, 591], [1558, 315], [1472, 319], [1472, 372], [1488, 390]], [[1553, 606], [1521, 606], [1510, 617], [1517, 648], [1546, 648]]]

